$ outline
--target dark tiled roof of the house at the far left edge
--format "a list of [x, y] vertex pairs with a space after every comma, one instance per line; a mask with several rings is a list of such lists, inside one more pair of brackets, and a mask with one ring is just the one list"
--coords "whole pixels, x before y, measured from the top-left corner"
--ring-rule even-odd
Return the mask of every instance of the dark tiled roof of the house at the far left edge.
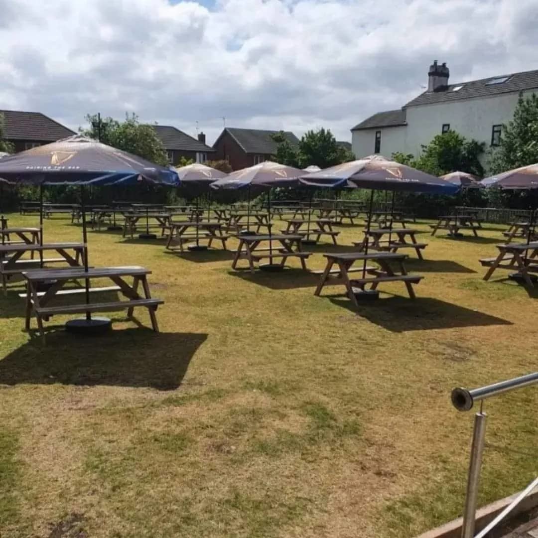
[[76, 134], [41, 112], [0, 110], [0, 115], [4, 119], [4, 138], [6, 140], [55, 142]]

